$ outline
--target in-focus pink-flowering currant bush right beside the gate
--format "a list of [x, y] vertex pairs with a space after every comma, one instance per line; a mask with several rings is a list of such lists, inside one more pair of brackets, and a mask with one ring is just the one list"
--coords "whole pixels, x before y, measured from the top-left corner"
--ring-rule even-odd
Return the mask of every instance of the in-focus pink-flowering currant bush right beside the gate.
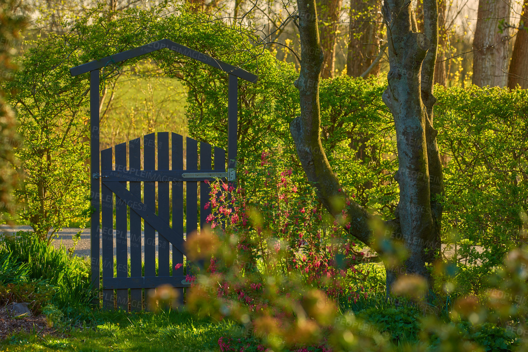
[[[260, 165], [244, 170], [246, 182], [237, 188], [222, 181], [211, 183], [211, 201], [204, 206], [211, 207], [207, 220], [211, 228], [237, 236], [236, 250], [249, 263], [244, 272], [295, 272], [332, 298], [357, 299], [366, 272], [356, 265], [364, 253], [343, 231], [343, 226], [350, 227], [345, 210], [328, 224], [314, 189], [299, 182], [303, 180], [291, 168], [275, 166], [274, 157], [263, 151]], [[216, 260], [210, 271], [216, 270]], [[366, 297], [366, 292], [361, 294]]]

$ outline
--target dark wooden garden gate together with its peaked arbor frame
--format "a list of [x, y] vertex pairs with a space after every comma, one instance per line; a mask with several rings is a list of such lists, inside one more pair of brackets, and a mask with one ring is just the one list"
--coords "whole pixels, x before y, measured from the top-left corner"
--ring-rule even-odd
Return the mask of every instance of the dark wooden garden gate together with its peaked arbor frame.
[[[213, 148], [204, 142], [200, 142], [199, 169], [198, 142], [192, 138], [187, 138], [187, 169], [184, 170], [183, 137], [174, 133], [169, 134], [169, 132], [158, 132], [157, 136], [156, 134], [149, 134], [143, 137], [143, 167], [141, 165], [141, 138], [128, 141], [128, 153], [127, 143], [122, 143], [102, 150], [99, 159], [100, 69], [109, 62], [118, 63], [164, 48], [228, 73], [227, 169], [225, 167], [225, 151], [215, 147], [214, 154], [212, 154]], [[175, 270], [173, 267], [172, 276], [169, 275], [169, 243], [172, 245], [172, 265], [183, 263], [183, 256], [185, 255], [183, 183], [186, 183], [186, 233], [192, 233], [197, 230], [198, 226], [204, 225], [205, 218], [209, 215], [209, 211], [204, 210], [202, 206], [200, 222], [198, 222], [197, 189], [199, 184], [200, 204], [203, 205], [209, 201], [209, 185], [204, 182], [205, 180], [212, 180], [216, 177], [225, 178], [229, 182], [235, 180], [238, 78], [255, 82], [257, 76], [168, 39], [139, 46], [70, 69], [72, 76], [87, 72], [90, 72], [90, 174], [92, 177], [90, 199], [94, 210], [91, 214], [90, 228], [91, 281], [95, 288], [100, 287], [99, 270], [102, 264], [103, 303], [105, 306], [114, 308], [116, 300], [119, 308], [128, 310], [130, 307], [132, 310], [142, 310], [143, 289], [153, 289], [161, 284], [171, 284], [183, 293], [183, 288], [190, 285], [185, 281], [183, 268]], [[213, 169], [212, 157], [214, 158]], [[169, 159], [171, 158], [172, 165], [169, 167]], [[172, 199], [169, 196], [171, 194], [169, 192], [170, 185], [172, 185]], [[171, 202], [172, 226], [169, 224], [169, 204]], [[157, 214], [156, 208], [158, 209]], [[129, 213], [129, 219], [127, 213]], [[142, 219], [143, 233], [141, 231]], [[130, 230], [129, 235], [128, 230]], [[155, 267], [156, 232], [158, 234], [157, 275]], [[142, 260], [142, 247], [144, 248], [144, 261]], [[116, 250], [116, 277], [114, 277], [114, 249]], [[128, 256], [128, 249], [130, 249], [130, 256]], [[100, 250], [102, 250], [102, 263], [100, 263], [99, 258]], [[130, 268], [128, 268], [128, 260], [130, 260]], [[144, 274], [142, 273], [142, 265], [144, 266]]]

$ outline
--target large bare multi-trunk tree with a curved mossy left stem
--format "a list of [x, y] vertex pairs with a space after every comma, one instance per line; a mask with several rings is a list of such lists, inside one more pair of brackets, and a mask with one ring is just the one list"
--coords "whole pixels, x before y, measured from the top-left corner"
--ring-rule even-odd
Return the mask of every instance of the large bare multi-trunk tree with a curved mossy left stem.
[[[374, 218], [352, 201], [342, 189], [326, 158], [320, 140], [319, 73], [323, 64], [317, 29], [315, 0], [299, 0], [301, 69], [295, 86], [299, 90], [300, 116], [290, 123], [297, 155], [308, 181], [317, 189], [325, 208], [337, 218], [345, 211], [348, 231], [366, 245], [384, 252], [372, 236]], [[400, 202], [389, 231], [381, 241], [390, 244], [392, 231], [403, 239], [407, 256], [397, 265], [385, 262], [387, 289], [398, 273], [412, 273], [430, 279], [432, 263], [440, 242], [444, 193], [442, 167], [432, 127], [433, 77], [438, 44], [436, 0], [423, 2], [425, 33], [418, 33], [410, 1], [385, 0], [384, 22], [389, 42], [388, 88], [383, 101], [394, 117], [397, 134]]]

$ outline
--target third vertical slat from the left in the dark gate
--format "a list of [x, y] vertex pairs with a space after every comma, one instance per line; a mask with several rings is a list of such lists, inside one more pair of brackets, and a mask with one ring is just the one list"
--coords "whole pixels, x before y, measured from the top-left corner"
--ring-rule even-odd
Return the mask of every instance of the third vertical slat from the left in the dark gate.
[[[130, 170], [141, 170], [141, 139], [128, 142]], [[141, 182], [130, 182], [130, 192], [141, 199]], [[141, 277], [141, 217], [130, 211], [130, 276]], [[130, 290], [130, 308], [133, 311], [142, 310], [142, 289]]]

